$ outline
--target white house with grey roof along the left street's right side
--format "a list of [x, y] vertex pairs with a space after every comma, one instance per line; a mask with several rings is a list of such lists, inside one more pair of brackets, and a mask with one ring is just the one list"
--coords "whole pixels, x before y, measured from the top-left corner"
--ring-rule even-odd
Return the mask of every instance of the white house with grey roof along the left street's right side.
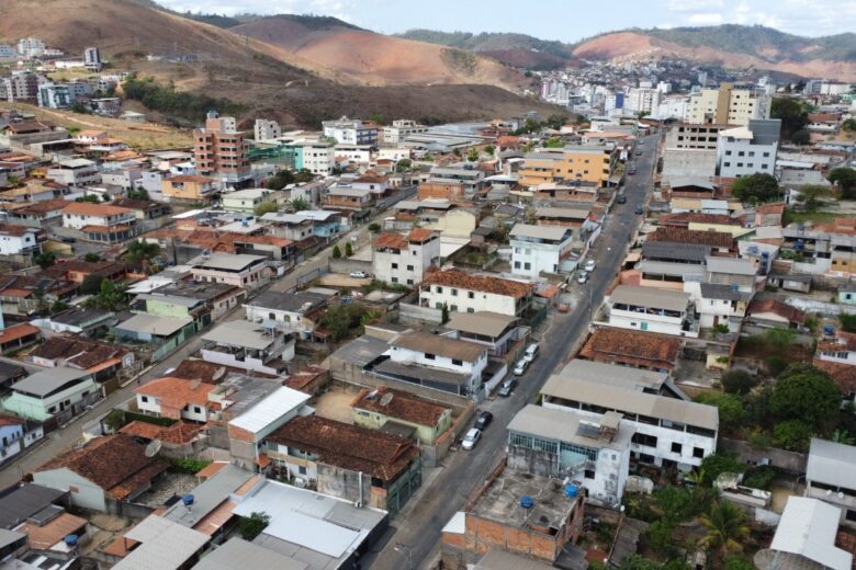
[[266, 290], [244, 305], [247, 320], [263, 323], [286, 334], [297, 334], [303, 340], [312, 333], [327, 306], [327, 297], [315, 293], [277, 293]]

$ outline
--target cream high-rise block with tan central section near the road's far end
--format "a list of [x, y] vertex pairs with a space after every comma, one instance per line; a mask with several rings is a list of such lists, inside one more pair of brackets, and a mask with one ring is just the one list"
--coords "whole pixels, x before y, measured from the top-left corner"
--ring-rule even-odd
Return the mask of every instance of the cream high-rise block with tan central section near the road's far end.
[[687, 122], [696, 124], [747, 125], [752, 118], [769, 118], [771, 98], [761, 89], [702, 89], [689, 98]]

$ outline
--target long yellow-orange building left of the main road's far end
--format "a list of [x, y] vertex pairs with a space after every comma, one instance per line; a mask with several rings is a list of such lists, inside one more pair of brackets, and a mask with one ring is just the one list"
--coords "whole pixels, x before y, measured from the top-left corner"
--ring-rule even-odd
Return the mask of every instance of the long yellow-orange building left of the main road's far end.
[[606, 186], [618, 163], [618, 147], [611, 142], [540, 149], [525, 157], [520, 184], [534, 186], [578, 181], [586, 185]]

